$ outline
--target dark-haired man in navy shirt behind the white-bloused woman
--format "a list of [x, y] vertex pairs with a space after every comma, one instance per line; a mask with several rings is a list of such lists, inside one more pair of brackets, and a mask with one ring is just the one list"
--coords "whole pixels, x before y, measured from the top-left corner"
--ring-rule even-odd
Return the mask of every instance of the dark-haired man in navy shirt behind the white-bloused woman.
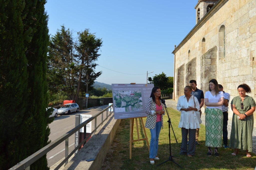
[[[204, 97], [204, 92], [203, 90], [198, 89], [196, 86], [196, 81], [195, 80], [190, 80], [189, 81], [190, 86], [192, 86], [192, 92], [191, 95], [195, 96], [200, 104], [200, 108], [204, 106], [204, 101], [205, 101], [205, 97]], [[200, 118], [202, 115], [202, 111], [199, 110], [200, 112]], [[196, 129], [196, 145], [200, 145], [200, 143], [198, 142], [198, 137], [199, 137], [199, 128]]]

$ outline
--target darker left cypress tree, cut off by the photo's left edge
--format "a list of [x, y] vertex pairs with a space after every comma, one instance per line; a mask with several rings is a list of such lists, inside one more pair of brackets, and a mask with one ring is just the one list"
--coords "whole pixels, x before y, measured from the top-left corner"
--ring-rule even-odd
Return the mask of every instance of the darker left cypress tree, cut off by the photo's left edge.
[[18, 163], [15, 139], [26, 111], [27, 59], [23, 37], [24, 1], [0, 0], [0, 169]]

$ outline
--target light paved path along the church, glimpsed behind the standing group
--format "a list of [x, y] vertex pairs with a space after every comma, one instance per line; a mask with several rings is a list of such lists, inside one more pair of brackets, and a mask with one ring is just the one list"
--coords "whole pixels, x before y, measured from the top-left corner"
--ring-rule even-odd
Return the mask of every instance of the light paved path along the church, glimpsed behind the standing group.
[[[172, 99], [165, 100], [165, 104], [167, 107], [172, 107], [176, 109], [177, 103]], [[202, 120], [202, 124], [205, 125], [205, 114], [201, 115], [201, 120]], [[232, 124], [232, 119], [228, 119], [228, 139], [230, 138], [231, 124]], [[256, 127], [253, 128], [253, 132], [252, 132], [252, 152], [256, 154]]]

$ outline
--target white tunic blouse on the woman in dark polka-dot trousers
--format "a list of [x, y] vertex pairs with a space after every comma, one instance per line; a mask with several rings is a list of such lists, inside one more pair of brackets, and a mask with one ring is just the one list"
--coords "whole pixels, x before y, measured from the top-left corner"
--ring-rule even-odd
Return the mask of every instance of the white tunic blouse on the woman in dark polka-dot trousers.
[[194, 100], [195, 100], [196, 108], [199, 111], [200, 105], [196, 97], [192, 95], [188, 101], [185, 95], [179, 97], [177, 107], [176, 107], [178, 111], [180, 111], [180, 121], [178, 126], [179, 128], [186, 128], [186, 129], [200, 128], [199, 122], [196, 118], [196, 111], [180, 110], [181, 108], [188, 108], [188, 106], [195, 108]]

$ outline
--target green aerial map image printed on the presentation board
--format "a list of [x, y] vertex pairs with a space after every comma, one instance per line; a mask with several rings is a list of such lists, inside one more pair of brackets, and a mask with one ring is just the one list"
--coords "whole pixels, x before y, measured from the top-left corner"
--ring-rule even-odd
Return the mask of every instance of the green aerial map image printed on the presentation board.
[[115, 103], [115, 112], [142, 111], [142, 93], [140, 90], [112, 91]]

